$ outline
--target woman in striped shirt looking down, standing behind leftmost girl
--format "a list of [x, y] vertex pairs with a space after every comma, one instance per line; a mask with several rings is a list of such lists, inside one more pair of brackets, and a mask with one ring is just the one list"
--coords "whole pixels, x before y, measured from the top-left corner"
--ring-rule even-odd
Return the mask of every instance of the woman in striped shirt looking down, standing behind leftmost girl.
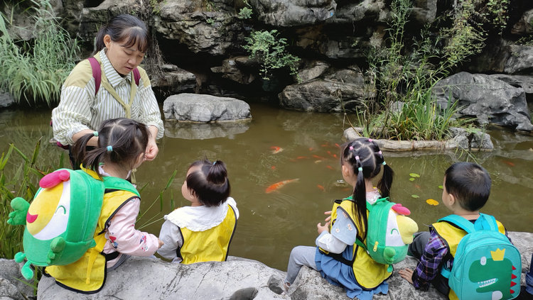
[[[83, 60], [70, 72], [61, 89], [60, 103], [52, 111], [55, 139], [63, 145], [74, 145], [83, 135], [94, 133], [105, 120], [131, 118], [148, 126], [150, 138], [145, 157], [154, 160], [158, 153], [156, 138], [163, 136], [164, 129], [150, 79], [139, 67], [149, 48], [146, 25], [135, 16], [116, 16], [97, 33], [96, 48], [94, 58], [101, 67], [101, 77], [95, 78], [89, 60]], [[87, 145], [97, 144], [95, 134]], [[78, 169], [80, 164], [70, 150], [69, 156], [72, 167]]]

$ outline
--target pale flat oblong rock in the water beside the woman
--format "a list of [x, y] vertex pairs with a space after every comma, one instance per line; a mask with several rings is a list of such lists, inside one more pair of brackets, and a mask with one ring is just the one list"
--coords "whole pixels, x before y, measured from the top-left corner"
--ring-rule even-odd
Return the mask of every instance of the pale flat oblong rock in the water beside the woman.
[[252, 118], [250, 106], [239, 99], [203, 94], [178, 94], [163, 102], [165, 119], [192, 122], [243, 121]]

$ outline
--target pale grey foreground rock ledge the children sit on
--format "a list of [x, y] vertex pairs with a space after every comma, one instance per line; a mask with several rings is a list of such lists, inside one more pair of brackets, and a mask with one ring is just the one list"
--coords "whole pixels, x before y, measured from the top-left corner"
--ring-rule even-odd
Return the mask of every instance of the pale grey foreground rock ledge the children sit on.
[[[510, 238], [522, 255], [522, 285], [533, 252], [533, 233], [510, 232]], [[414, 269], [416, 260], [394, 265], [388, 279], [389, 294], [374, 299], [446, 299], [431, 287], [418, 291], [402, 279], [398, 270]], [[83, 295], [63, 289], [50, 277], [43, 277], [38, 285], [38, 299], [348, 299], [341, 287], [335, 287], [321, 275], [302, 267], [288, 294], [279, 284], [286, 272], [267, 267], [261, 262], [229, 257], [227, 262], [201, 262], [193, 265], [173, 264], [161, 260], [132, 257], [124, 265], [107, 273], [106, 284], [97, 294]]]

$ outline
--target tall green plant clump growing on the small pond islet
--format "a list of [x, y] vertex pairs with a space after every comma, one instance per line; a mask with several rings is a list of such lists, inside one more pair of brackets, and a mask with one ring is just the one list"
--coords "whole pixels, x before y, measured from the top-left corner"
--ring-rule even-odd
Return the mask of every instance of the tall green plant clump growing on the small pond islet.
[[[394, 140], [443, 140], [448, 128], [466, 126], [471, 119], [456, 119], [456, 103], [448, 101], [441, 109], [432, 89], [439, 79], [446, 77], [452, 67], [465, 57], [483, 48], [483, 35], [470, 26], [473, 6], [463, 1], [446, 35], [427, 38], [428, 28], [421, 38], [405, 49], [404, 26], [409, 17], [410, 0], [393, 0], [387, 47], [372, 48], [367, 70], [369, 89], [376, 91], [377, 104], [357, 111], [363, 134]], [[436, 47], [446, 38], [442, 48]]]

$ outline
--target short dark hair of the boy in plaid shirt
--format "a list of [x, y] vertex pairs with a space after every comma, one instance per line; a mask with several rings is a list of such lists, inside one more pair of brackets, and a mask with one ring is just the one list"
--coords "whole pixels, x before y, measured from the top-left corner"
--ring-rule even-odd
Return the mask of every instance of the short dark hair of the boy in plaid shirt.
[[490, 196], [490, 176], [484, 167], [472, 162], [456, 162], [444, 173], [448, 194], [467, 211], [478, 211]]

